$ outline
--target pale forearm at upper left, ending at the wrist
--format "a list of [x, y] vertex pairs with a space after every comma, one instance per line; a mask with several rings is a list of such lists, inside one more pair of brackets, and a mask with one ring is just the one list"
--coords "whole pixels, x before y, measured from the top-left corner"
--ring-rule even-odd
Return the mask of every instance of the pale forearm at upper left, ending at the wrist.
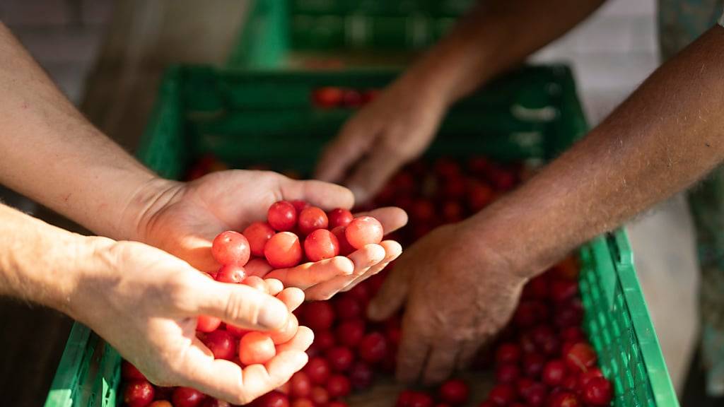
[[134, 238], [126, 212], [153, 174], [90, 125], [1, 23], [0, 89], [0, 183], [98, 234]]

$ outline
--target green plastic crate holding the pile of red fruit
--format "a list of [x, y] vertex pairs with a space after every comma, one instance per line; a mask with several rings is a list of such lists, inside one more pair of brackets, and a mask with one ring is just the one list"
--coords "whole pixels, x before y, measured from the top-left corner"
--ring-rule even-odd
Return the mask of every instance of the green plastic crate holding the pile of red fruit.
[[[258, 163], [308, 172], [319, 149], [353, 112], [315, 109], [320, 85], [374, 88], [395, 72], [167, 72], [138, 157], [179, 178], [201, 154], [235, 166]], [[472, 154], [502, 161], [547, 160], [586, 131], [571, 71], [524, 67], [452, 107], [429, 156]], [[678, 406], [633, 268], [618, 230], [582, 246], [584, 327], [615, 387], [615, 406]], [[47, 407], [116, 406], [119, 365], [113, 348], [75, 324]]]

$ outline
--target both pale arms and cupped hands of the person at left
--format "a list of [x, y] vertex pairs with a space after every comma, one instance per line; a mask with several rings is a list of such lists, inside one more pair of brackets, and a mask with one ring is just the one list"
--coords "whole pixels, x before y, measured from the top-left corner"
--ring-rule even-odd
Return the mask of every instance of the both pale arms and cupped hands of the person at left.
[[[87, 324], [156, 384], [195, 387], [235, 404], [281, 385], [306, 363], [312, 334], [301, 327], [264, 366], [242, 370], [214, 361], [195, 338], [197, 316], [277, 330], [295, 306], [214, 282], [199, 270], [219, 267], [210, 251], [216, 234], [264, 219], [274, 201], [350, 208], [349, 190], [271, 172], [163, 180], [90, 125], [1, 24], [0, 106], [0, 183], [107, 237], [75, 235], [0, 204], [0, 294], [43, 303]], [[395, 208], [376, 215], [388, 232], [407, 219]], [[274, 289], [300, 286], [308, 298], [329, 296], [400, 251], [395, 244], [375, 245], [353, 259], [287, 269]], [[298, 306], [303, 292], [287, 290], [279, 295]]]

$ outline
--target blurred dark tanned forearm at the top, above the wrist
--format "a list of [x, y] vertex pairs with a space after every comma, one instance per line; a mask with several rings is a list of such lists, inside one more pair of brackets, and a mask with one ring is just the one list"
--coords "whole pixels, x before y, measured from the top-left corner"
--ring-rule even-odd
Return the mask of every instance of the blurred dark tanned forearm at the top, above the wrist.
[[481, 1], [409, 75], [452, 103], [571, 30], [604, 1]]

